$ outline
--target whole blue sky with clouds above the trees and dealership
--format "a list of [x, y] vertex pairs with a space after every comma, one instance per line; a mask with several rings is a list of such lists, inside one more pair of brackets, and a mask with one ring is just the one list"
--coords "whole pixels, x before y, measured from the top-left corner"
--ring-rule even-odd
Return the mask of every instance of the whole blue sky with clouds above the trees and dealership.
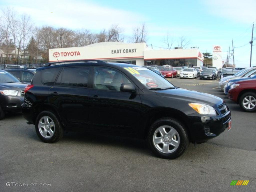
[[[28, 14], [37, 27], [65, 27], [72, 30], [90, 29], [99, 32], [118, 24], [125, 42], [130, 41], [134, 27], [145, 23], [147, 45], [164, 49], [164, 37], [177, 40], [183, 36], [190, 47], [211, 52], [214, 45], [222, 47], [222, 59], [234, 44], [236, 67], [250, 66], [252, 24], [256, 26], [255, 0], [1, 0], [0, 8], [13, 7], [19, 14]], [[254, 26], [252, 66], [256, 66], [256, 27]], [[232, 52], [232, 51], [231, 51]], [[233, 63], [231, 56], [229, 63]]]

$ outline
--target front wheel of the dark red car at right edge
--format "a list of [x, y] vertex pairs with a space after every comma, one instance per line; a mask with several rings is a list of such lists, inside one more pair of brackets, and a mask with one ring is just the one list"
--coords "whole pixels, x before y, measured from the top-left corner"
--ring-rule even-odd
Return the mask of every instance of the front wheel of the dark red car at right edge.
[[239, 99], [239, 105], [246, 112], [256, 111], [256, 94], [253, 92], [244, 93]]

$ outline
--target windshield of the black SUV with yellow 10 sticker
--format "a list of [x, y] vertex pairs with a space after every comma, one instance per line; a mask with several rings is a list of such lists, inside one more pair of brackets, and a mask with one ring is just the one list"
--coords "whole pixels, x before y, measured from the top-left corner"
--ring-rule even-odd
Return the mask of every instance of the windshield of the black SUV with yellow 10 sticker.
[[147, 89], [164, 90], [175, 88], [169, 81], [145, 67], [124, 67], [137, 80], [139, 80]]

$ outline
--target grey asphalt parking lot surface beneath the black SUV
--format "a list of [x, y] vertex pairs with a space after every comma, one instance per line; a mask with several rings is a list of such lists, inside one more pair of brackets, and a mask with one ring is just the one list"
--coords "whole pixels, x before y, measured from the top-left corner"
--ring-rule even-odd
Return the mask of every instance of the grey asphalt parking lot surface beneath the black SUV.
[[[0, 121], [0, 191], [256, 191], [255, 113], [225, 99], [218, 80], [168, 80], [224, 99], [231, 130], [166, 160], [130, 138], [68, 133], [57, 143], [43, 143], [21, 114], [7, 114]], [[230, 186], [232, 180], [249, 183]], [[35, 186], [40, 183], [51, 186]]]

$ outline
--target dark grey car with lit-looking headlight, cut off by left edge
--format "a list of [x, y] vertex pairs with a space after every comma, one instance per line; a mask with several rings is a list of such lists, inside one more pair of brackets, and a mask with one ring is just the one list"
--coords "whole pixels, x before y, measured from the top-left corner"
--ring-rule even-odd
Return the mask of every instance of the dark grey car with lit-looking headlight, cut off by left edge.
[[0, 69], [0, 120], [6, 112], [21, 111], [26, 86], [12, 74]]

